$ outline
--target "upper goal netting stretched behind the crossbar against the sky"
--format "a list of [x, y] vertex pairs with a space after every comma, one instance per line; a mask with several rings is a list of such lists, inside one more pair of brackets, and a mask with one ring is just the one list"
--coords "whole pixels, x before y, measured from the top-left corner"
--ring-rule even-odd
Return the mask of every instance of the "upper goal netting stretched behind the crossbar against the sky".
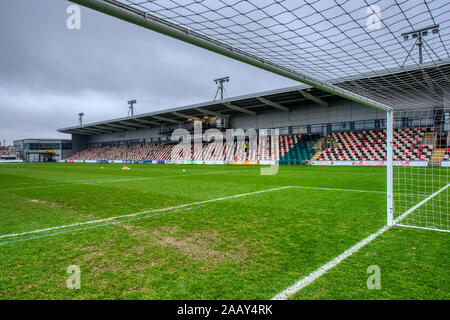
[[449, 91], [448, 0], [107, 2], [393, 109], [433, 109]]

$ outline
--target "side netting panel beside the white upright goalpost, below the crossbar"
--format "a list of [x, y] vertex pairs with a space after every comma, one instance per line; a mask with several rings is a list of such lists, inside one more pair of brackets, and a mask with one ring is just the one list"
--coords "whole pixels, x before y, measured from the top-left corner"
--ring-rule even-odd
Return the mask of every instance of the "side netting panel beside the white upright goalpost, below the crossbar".
[[450, 231], [450, 110], [397, 112], [394, 125], [397, 224]]

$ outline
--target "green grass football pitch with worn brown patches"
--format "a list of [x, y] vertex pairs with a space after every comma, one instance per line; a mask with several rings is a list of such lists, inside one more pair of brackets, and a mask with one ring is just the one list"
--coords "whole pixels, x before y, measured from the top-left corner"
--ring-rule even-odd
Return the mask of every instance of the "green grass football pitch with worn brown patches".
[[[0, 299], [270, 299], [386, 221], [385, 168], [122, 166], [0, 165]], [[291, 298], [449, 299], [449, 244], [394, 227]]]

